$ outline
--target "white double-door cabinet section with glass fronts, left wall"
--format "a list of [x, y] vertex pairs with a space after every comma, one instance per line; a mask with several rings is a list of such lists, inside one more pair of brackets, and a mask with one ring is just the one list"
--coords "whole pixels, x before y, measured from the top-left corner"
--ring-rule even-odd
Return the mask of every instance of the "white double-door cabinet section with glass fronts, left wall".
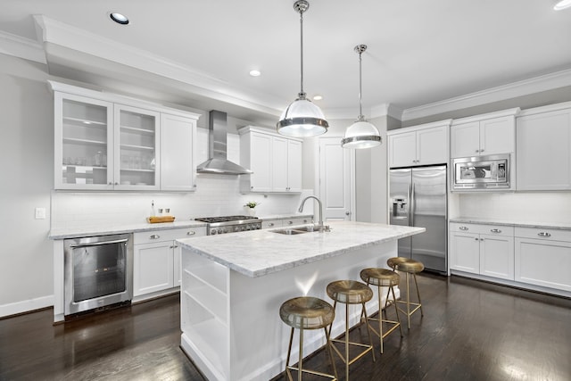
[[56, 189], [159, 189], [159, 112], [60, 92], [54, 98]]

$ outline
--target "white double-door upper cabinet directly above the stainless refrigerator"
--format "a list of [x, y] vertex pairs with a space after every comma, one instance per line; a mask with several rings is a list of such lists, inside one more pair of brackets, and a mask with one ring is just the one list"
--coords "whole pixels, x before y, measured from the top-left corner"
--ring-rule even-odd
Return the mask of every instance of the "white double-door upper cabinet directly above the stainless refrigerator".
[[399, 168], [447, 163], [450, 124], [451, 120], [442, 120], [388, 131], [389, 166]]

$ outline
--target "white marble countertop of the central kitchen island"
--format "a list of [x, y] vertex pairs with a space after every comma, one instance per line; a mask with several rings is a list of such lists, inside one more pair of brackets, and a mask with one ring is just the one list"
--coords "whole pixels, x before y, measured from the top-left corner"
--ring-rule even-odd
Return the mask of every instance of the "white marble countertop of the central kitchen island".
[[[261, 277], [426, 231], [396, 225], [336, 221], [330, 232], [287, 236], [266, 229], [180, 239], [187, 250], [248, 277]], [[184, 255], [184, 254], [183, 254]]]

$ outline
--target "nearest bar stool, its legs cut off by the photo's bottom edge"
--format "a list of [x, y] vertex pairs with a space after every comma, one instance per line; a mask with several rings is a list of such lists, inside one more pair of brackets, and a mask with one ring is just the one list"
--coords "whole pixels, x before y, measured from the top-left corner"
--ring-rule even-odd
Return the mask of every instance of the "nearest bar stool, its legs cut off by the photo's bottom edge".
[[[333, 352], [331, 352], [331, 340], [329, 334], [331, 332], [331, 323], [335, 319], [335, 309], [328, 302], [319, 298], [311, 296], [300, 296], [283, 302], [279, 308], [279, 317], [285, 324], [292, 327], [292, 333], [289, 336], [289, 347], [287, 348], [287, 359], [285, 360], [285, 373], [290, 381], [293, 381], [291, 369], [297, 370], [297, 379], [302, 381], [303, 373], [310, 373], [321, 377], [328, 377], [336, 380], [337, 369], [335, 369], [335, 362], [333, 360]], [[329, 326], [329, 331], [327, 331]], [[297, 368], [289, 365], [289, 358], [292, 352], [292, 342], [294, 341], [294, 329], [300, 330], [300, 355]], [[303, 369], [303, 330], [305, 329], [319, 329], [323, 328], [327, 338], [327, 352], [329, 353], [329, 360], [333, 366], [335, 376], [327, 373], [318, 372], [316, 370]]]

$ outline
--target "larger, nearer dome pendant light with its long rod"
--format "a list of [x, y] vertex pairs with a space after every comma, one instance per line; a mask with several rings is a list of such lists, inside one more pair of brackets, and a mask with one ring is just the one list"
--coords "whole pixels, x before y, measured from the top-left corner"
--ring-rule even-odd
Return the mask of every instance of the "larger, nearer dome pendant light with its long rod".
[[294, 10], [300, 13], [301, 90], [294, 102], [282, 112], [277, 122], [277, 132], [288, 137], [315, 137], [325, 134], [329, 127], [323, 112], [306, 98], [303, 91], [303, 12], [307, 11], [309, 7], [310, 3], [306, 0], [298, 0], [294, 4]]

